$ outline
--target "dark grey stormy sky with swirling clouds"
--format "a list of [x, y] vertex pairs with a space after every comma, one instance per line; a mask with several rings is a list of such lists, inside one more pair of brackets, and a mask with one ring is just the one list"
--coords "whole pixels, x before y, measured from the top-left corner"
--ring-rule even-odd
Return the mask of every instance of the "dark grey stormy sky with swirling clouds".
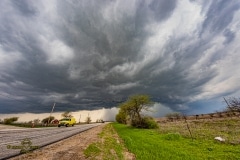
[[[238, 0], [1, 0], [0, 113], [148, 94], [204, 113], [240, 96]], [[161, 112], [161, 110], [159, 110]]]

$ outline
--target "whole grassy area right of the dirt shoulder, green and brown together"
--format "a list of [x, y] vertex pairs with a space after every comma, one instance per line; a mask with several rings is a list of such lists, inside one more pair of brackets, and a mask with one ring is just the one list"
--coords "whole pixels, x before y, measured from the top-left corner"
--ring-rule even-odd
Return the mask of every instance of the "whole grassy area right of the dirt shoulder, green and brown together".
[[240, 160], [237, 119], [190, 121], [192, 137], [184, 121], [163, 123], [157, 130], [111, 125], [137, 160]]

